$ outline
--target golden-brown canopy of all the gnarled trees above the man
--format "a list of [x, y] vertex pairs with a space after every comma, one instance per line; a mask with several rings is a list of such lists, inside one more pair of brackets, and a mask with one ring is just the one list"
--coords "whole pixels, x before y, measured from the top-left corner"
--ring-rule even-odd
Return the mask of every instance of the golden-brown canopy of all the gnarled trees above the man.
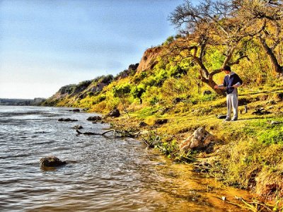
[[[275, 54], [282, 41], [282, 1], [202, 0], [197, 6], [184, 1], [169, 19], [184, 35], [171, 43], [169, 52], [179, 54], [181, 59], [192, 58], [200, 68], [201, 81], [212, 89], [216, 85], [213, 76], [221, 72], [223, 66], [233, 66], [241, 59], [248, 59], [241, 49], [243, 40], [258, 39], [275, 71], [282, 73]], [[224, 56], [218, 69], [210, 69], [212, 65], [205, 59], [212, 47], [218, 47]]]

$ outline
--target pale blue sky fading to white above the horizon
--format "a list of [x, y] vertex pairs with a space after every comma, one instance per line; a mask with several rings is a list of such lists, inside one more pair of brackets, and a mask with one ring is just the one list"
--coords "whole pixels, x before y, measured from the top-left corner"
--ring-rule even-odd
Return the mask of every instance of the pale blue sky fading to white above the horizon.
[[49, 98], [124, 71], [178, 30], [183, 0], [0, 0], [0, 98]]

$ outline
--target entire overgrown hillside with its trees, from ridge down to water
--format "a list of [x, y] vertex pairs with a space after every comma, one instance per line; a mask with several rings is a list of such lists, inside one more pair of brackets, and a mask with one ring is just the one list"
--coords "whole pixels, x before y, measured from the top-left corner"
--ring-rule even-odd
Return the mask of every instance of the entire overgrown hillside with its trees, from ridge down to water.
[[[221, 140], [210, 175], [262, 196], [283, 196], [282, 16], [282, 1], [202, 1], [196, 7], [185, 1], [171, 15], [173, 23], [185, 25], [182, 35], [148, 49], [139, 66], [61, 88], [45, 105], [100, 113], [118, 108], [125, 115], [115, 124], [143, 129], [149, 146], [177, 161], [208, 156], [179, 149], [205, 126]], [[226, 113], [223, 93], [214, 90], [226, 64], [244, 81], [237, 122], [216, 119]]]

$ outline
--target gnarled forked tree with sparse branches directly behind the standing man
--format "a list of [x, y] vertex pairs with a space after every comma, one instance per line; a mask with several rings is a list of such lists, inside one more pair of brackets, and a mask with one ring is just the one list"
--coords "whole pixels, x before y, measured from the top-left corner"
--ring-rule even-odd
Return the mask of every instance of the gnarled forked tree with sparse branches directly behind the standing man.
[[[218, 94], [224, 94], [223, 90], [214, 89], [216, 83], [213, 76], [221, 72], [221, 68], [227, 64], [238, 64], [246, 55], [238, 55], [234, 59], [239, 42], [244, 37], [254, 36], [263, 30], [265, 23], [260, 29], [252, 28], [252, 20], [242, 20], [238, 16], [238, 8], [233, 1], [203, 0], [199, 5], [193, 6], [191, 1], [175, 8], [169, 17], [171, 22], [185, 34], [171, 44], [171, 52], [180, 54], [182, 57], [191, 57], [200, 66], [200, 78]], [[216, 70], [207, 69], [204, 55], [211, 46], [224, 47], [225, 59], [222, 67]]]

